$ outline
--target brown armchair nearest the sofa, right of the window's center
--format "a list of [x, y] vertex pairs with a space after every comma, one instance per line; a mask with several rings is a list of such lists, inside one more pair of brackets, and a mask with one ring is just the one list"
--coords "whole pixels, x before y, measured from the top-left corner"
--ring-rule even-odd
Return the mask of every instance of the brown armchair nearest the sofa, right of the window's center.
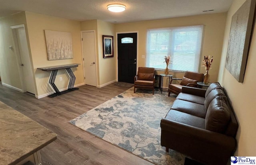
[[[179, 94], [181, 92], [182, 86], [198, 87], [197, 82], [203, 81], [204, 74], [198, 72], [186, 71], [182, 79], [172, 79], [169, 84], [168, 96], [170, 92], [174, 94]], [[172, 84], [174, 80], [181, 80], [180, 84]]]

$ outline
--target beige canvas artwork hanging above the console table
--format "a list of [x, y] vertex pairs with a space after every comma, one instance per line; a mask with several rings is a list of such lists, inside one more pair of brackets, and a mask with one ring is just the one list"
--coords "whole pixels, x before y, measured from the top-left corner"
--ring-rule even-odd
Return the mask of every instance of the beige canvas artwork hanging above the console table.
[[72, 35], [70, 32], [44, 30], [48, 60], [72, 59]]

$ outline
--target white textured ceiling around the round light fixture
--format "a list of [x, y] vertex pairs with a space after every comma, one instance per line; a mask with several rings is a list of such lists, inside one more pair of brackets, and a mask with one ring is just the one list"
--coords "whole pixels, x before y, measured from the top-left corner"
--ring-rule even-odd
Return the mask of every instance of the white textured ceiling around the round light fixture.
[[[0, 0], [0, 18], [30, 11], [71, 20], [137, 22], [227, 12], [233, 0]], [[122, 13], [112, 13], [108, 4], [126, 5]], [[202, 12], [203, 10], [214, 10]]]

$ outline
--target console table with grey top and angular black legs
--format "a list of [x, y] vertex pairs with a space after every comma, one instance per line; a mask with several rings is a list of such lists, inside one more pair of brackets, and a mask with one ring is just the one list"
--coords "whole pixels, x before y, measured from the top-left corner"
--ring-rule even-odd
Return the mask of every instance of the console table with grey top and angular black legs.
[[[73, 68], [73, 67], [78, 67], [78, 65], [80, 65], [80, 64], [56, 65], [56, 66], [51, 66], [51, 67], [38, 68], [38, 69], [41, 69], [42, 71], [52, 71], [49, 83], [52, 86], [52, 88], [54, 89], [55, 93], [49, 95], [49, 97], [55, 97], [55, 96], [58, 96], [58, 95], [61, 95], [61, 94], [67, 93], [67, 92], [71, 92], [73, 90], [78, 89], [78, 88], [74, 88], [76, 77], [75, 77], [74, 73], [72, 72], [72, 70], [70, 69], [70, 68]], [[68, 75], [70, 75], [70, 81], [69, 81], [69, 84], [68, 84], [68, 89], [64, 90], [62, 92], [60, 92], [58, 90], [57, 86], [54, 84], [54, 81], [55, 81], [55, 78], [56, 78], [56, 75], [57, 75], [57, 72], [58, 72], [59, 69], [66, 69], [68, 71]]]

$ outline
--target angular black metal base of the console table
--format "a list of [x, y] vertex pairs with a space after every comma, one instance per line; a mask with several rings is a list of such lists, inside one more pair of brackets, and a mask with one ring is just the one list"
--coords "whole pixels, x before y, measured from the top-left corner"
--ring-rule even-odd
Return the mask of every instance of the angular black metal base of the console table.
[[58, 69], [53, 70], [52, 74], [51, 74], [51, 77], [50, 77], [49, 83], [50, 83], [50, 85], [52, 86], [52, 88], [54, 89], [54, 91], [56, 93], [48, 95], [49, 97], [59, 96], [61, 94], [64, 94], [64, 93], [67, 93], [67, 92], [72, 92], [74, 90], [78, 90], [79, 89], [79, 88], [74, 88], [76, 77], [75, 77], [74, 73], [72, 72], [72, 70], [70, 68], [66, 68], [66, 70], [68, 72], [68, 75], [70, 75], [70, 81], [69, 81], [69, 84], [68, 84], [68, 89], [64, 90], [64, 91], [61, 91], [61, 92], [60, 92], [60, 90], [58, 90], [57, 86], [54, 84], [54, 81], [56, 79], [56, 75], [57, 75]]

